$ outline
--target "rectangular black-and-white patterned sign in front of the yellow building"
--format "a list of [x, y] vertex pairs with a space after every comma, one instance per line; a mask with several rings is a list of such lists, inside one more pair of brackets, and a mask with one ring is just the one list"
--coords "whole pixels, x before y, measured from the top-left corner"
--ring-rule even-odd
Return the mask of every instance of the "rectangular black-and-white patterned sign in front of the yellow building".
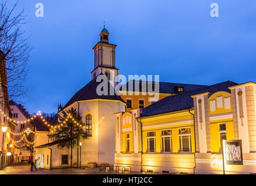
[[223, 158], [225, 164], [243, 164], [241, 140], [223, 140]]

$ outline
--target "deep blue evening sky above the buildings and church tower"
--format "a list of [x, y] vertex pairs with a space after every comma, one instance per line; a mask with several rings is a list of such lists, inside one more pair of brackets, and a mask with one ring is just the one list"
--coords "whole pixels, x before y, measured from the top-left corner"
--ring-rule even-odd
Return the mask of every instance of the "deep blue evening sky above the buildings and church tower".
[[29, 0], [19, 8], [33, 45], [23, 100], [30, 113], [56, 112], [90, 81], [103, 21], [117, 44], [116, 66], [127, 77], [159, 74], [160, 81], [206, 85], [256, 81], [256, 1]]

